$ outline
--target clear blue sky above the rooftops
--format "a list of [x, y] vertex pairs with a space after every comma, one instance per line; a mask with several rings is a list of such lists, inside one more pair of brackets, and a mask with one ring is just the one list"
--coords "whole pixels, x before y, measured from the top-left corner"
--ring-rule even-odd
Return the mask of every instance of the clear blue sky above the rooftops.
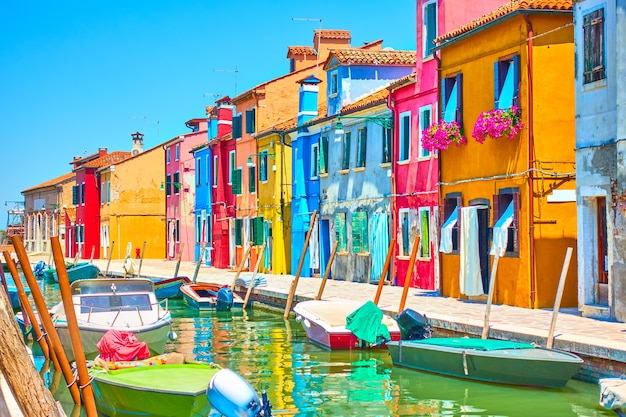
[[0, 229], [5, 202], [74, 156], [128, 151], [137, 130], [151, 148], [216, 97], [287, 73], [287, 47], [312, 46], [319, 19], [353, 46], [415, 49], [415, 0], [0, 3]]

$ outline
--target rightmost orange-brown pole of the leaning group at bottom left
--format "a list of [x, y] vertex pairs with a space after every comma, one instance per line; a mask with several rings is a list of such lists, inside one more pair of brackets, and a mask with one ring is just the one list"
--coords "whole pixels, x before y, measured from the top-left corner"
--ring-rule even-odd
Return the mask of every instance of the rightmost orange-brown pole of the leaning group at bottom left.
[[54, 254], [54, 263], [57, 266], [57, 276], [59, 277], [59, 290], [61, 291], [61, 299], [63, 300], [63, 309], [65, 310], [65, 318], [67, 320], [67, 328], [70, 333], [70, 341], [72, 342], [72, 350], [74, 351], [74, 359], [76, 368], [78, 369], [78, 381], [83, 393], [83, 401], [87, 417], [96, 417], [96, 402], [93, 395], [93, 388], [89, 380], [89, 371], [87, 371], [87, 362], [85, 359], [85, 350], [83, 342], [80, 338], [80, 329], [76, 320], [76, 311], [74, 310], [74, 302], [72, 300], [72, 290], [70, 289], [70, 280], [67, 277], [67, 270], [63, 262], [63, 251], [59, 243], [58, 236], [50, 238], [52, 251]]

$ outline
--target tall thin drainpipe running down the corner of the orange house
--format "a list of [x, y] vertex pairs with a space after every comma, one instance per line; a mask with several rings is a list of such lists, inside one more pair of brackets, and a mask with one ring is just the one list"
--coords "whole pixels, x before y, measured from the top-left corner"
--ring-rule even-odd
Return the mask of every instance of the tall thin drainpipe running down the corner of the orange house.
[[535, 308], [536, 305], [536, 283], [535, 283], [535, 137], [533, 127], [533, 25], [527, 15], [524, 15], [526, 22], [528, 48], [528, 241], [529, 241], [529, 257], [530, 257], [530, 306]]

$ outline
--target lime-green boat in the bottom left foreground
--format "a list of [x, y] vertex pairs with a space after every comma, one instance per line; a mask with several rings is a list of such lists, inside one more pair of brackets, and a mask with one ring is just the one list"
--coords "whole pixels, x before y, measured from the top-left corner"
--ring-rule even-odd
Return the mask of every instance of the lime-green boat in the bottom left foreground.
[[92, 370], [98, 413], [105, 416], [206, 417], [206, 391], [222, 368], [210, 363]]

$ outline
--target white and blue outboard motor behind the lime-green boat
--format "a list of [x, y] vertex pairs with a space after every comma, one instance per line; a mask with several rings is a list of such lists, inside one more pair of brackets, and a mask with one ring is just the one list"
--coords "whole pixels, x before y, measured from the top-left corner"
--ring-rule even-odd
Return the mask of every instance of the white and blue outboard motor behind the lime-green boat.
[[230, 369], [218, 371], [206, 391], [211, 406], [226, 417], [270, 417], [272, 405], [265, 392], [263, 400], [248, 381]]

